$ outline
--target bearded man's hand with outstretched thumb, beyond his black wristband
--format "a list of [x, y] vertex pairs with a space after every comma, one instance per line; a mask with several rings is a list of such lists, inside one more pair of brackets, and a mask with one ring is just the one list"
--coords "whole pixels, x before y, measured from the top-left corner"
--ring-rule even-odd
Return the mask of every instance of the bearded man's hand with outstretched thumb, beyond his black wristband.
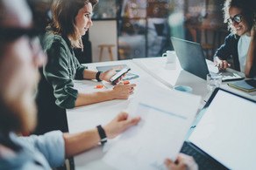
[[135, 117], [128, 119], [128, 113], [120, 112], [115, 119], [112, 119], [110, 123], [103, 127], [107, 138], [113, 139], [117, 135], [123, 133], [130, 126], [135, 126], [139, 123], [140, 118]]

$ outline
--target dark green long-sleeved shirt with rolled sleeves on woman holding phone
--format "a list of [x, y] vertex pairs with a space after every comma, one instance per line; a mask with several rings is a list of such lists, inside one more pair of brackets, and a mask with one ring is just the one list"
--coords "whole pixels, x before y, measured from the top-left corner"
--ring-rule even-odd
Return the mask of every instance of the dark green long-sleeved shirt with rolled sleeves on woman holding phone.
[[48, 31], [42, 44], [48, 56], [43, 73], [47, 82], [53, 86], [55, 104], [60, 108], [75, 107], [78, 91], [74, 89], [73, 80], [82, 79], [86, 67], [75, 58], [68, 37], [61, 37]]

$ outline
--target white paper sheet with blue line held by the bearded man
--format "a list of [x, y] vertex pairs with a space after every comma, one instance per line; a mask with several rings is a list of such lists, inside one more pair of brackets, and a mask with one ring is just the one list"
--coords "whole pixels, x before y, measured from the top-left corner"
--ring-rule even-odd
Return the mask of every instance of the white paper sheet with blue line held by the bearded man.
[[165, 169], [164, 160], [175, 160], [181, 150], [201, 97], [142, 82], [138, 92], [127, 112], [141, 121], [110, 141], [103, 161], [124, 170]]

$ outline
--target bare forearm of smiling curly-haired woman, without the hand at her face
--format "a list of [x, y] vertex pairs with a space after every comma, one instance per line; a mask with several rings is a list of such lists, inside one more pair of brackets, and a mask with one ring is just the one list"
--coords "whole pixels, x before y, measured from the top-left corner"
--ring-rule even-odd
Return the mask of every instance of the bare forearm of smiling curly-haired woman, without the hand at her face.
[[245, 77], [250, 77], [250, 71], [252, 69], [253, 60], [256, 56], [256, 37], [252, 37], [251, 43], [248, 49], [247, 57], [246, 57], [246, 63], [245, 63]]

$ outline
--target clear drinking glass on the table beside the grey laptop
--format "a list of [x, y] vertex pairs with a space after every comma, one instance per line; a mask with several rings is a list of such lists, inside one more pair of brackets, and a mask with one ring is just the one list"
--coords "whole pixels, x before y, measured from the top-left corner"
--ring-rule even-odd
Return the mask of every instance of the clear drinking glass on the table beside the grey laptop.
[[222, 83], [222, 76], [207, 74], [207, 92], [213, 92], [215, 88], [219, 87]]

